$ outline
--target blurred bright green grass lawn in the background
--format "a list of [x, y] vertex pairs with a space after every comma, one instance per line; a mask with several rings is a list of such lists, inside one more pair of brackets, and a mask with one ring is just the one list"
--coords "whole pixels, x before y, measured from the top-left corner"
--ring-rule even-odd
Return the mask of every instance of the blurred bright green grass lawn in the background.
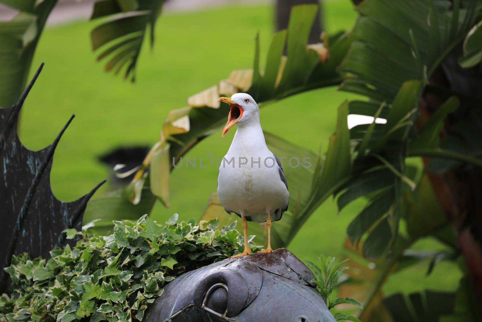
[[[229, 20], [227, 16], [233, 12], [242, 19]], [[349, 29], [356, 19], [348, 0], [326, 1], [324, 12], [328, 32]], [[89, 39], [95, 25], [77, 22], [45, 30], [32, 65], [35, 70], [43, 61], [45, 67], [22, 115], [20, 137], [33, 150], [50, 144], [69, 116], [77, 115], [57, 147], [51, 174], [55, 196], [65, 201], [82, 196], [108, 177], [109, 169], [97, 156], [118, 146], [152, 145], [169, 110], [185, 106], [187, 97], [226, 78], [230, 70], [250, 68], [258, 31], [261, 57], [265, 57], [274, 23], [273, 8], [268, 6], [163, 14], [156, 25], [153, 50], [144, 44], [135, 84], [105, 73], [104, 62], [95, 62]], [[234, 44], [237, 49], [220, 43]], [[353, 97], [335, 87], [313, 90], [266, 106], [261, 123], [266, 131], [286, 140], [313, 151], [321, 144], [325, 150], [335, 130], [338, 105]], [[219, 130], [187, 156], [222, 157], [233, 134], [231, 130], [221, 138]], [[199, 218], [209, 195], [216, 191], [216, 177], [215, 164], [174, 170], [172, 206], [164, 209], [157, 203], [154, 219], [163, 221], [174, 212], [182, 219]], [[94, 197], [108, 189], [106, 184]], [[320, 253], [340, 256], [345, 229], [361, 207], [363, 201], [357, 200], [338, 214], [333, 200], [328, 200], [289, 249], [310, 261], [316, 261]], [[426, 267], [415, 266], [401, 272], [399, 278], [392, 276], [386, 291], [456, 288], [459, 273], [453, 264], [440, 264], [429, 278], [424, 276]]]

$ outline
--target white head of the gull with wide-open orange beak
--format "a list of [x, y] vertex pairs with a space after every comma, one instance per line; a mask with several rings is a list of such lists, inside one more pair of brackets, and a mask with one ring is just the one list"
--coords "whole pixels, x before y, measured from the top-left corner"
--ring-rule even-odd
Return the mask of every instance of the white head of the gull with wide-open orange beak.
[[251, 95], [246, 93], [236, 93], [230, 98], [221, 97], [218, 101], [226, 102], [231, 107], [228, 115], [228, 123], [226, 123], [226, 126], [223, 129], [223, 137], [226, 132], [237, 123], [239, 125], [248, 125], [253, 122], [259, 124], [259, 107]]

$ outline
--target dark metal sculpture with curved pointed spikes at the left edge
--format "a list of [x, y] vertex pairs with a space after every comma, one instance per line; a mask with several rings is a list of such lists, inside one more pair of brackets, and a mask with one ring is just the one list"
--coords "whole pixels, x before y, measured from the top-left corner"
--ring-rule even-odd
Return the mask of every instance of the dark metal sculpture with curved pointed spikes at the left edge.
[[48, 147], [30, 151], [20, 142], [18, 114], [42, 67], [43, 64], [17, 103], [0, 109], [0, 294], [7, 287], [3, 267], [10, 265], [12, 255], [28, 252], [32, 257], [50, 257], [52, 248], [66, 244], [64, 229], [80, 230], [87, 201], [105, 182], [72, 202], [62, 202], [52, 193], [52, 157], [74, 115]]

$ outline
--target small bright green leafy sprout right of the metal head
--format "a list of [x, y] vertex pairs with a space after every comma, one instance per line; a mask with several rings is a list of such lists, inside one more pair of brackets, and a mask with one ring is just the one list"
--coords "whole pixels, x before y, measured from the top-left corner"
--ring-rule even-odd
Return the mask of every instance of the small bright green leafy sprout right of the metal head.
[[[333, 292], [333, 288], [335, 287], [336, 283], [340, 279], [340, 276], [343, 274], [343, 271], [348, 268], [348, 266], [342, 267], [343, 264], [345, 264], [348, 261], [348, 259], [341, 261], [335, 266], [334, 266], [335, 257], [325, 258], [325, 256], [321, 254], [319, 257], [319, 260], [320, 260], [321, 267], [306, 260], [304, 262], [315, 275], [316, 279], [313, 279], [311, 281], [316, 283], [317, 285], [316, 288], [318, 292], [320, 292], [321, 297], [323, 297], [323, 300], [325, 301], [326, 306], [329, 309], [332, 309], [338, 304], [353, 304], [354, 306], [357, 306], [363, 309], [360, 302], [358, 302], [357, 300], [351, 297], [338, 297], [338, 298], [335, 298], [334, 300], [330, 300], [330, 295]], [[333, 316], [335, 317], [336, 321], [348, 320], [348, 321], [354, 321], [354, 322], [361, 322], [353, 315], [346, 315], [340, 312], [335, 312]]]

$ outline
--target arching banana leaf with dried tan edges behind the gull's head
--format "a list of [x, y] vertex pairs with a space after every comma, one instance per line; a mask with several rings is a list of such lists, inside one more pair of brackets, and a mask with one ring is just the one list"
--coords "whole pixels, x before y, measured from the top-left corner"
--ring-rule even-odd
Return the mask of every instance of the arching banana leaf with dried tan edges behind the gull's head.
[[[319, 44], [308, 46], [308, 33], [316, 11], [317, 6], [311, 4], [293, 7], [288, 30], [277, 32], [271, 40], [264, 71], [259, 70], [259, 39], [256, 38], [253, 69], [231, 71], [228, 78], [189, 97], [187, 107], [172, 110], [162, 126], [159, 141], [147, 154], [133, 182], [118, 195], [128, 196], [127, 199], [134, 204], [143, 198], [149, 199], [150, 196], [141, 196], [143, 189], [136, 187], [150, 167], [151, 192], [168, 206], [169, 176], [173, 164], [226, 121], [227, 112], [220, 108], [217, 101], [220, 96], [247, 92], [262, 108], [272, 100], [339, 84], [341, 75], [336, 68], [348, 51], [350, 39], [348, 34], [338, 33], [330, 38], [325, 36]], [[325, 46], [324, 43], [330, 45]], [[285, 45], [288, 57], [282, 55]], [[152, 171], [152, 168], [155, 170]], [[100, 216], [102, 210], [98, 210], [97, 216]]]

